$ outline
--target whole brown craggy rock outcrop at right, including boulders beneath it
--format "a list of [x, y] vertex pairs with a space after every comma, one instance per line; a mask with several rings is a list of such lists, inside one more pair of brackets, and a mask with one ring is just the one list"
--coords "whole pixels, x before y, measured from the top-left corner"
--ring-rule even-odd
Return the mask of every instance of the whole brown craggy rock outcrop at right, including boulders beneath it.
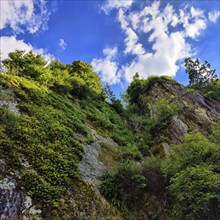
[[212, 123], [220, 117], [219, 102], [168, 79], [154, 82], [144, 91], [144, 95], [154, 120], [158, 117], [156, 104], [160, 99], [169, 100], [179, 108], [178, 116], [173, 116], [165, 127], [154, 132], [154, 138], [158, 140], [155, 150], [160, 146], [163, 155], [169, 154], [170, 144], [181, 143], [191, 131], [210, 134]]

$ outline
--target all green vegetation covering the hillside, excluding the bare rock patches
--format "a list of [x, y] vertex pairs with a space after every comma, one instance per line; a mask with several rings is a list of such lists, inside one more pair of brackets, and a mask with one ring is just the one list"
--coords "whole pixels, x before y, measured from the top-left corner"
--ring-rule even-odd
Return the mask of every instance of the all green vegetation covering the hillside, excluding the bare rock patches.
[[[220, 218], [219, 123], [209, 137], [192, 125], [182, 143], [171, 145], [165, 158], [161, 153], [162, 142], [172, 143], [166, 132], [173, 117], [183, 110], [172, 95], [155, 94], [161, 84], [175, 87], [172, 78], [136, 74], [123, 106], [82, 61], [48, 64], [40, 55], [15, 51], [2, 63], [7, 71], [0, 75], [0, 159], [7, 169], [1, 175], [19, 172], [13, 176], [18, 189], [31, 196], [44, 219], [83, 219], [75, 206], [119, 216], [115, 206], [123, 219]], [[205, 63], [204, 71], [209, 67]], [[212, 73], [192, 86], [219, 100]], [[106, 140], [100, 143], [99, 159], [108, 168], [100, 192], [111, 205], [79, 175], [83, 145], [97, 138], [91, 129]], [[107, 146], [109, 138], [116, 147]]]

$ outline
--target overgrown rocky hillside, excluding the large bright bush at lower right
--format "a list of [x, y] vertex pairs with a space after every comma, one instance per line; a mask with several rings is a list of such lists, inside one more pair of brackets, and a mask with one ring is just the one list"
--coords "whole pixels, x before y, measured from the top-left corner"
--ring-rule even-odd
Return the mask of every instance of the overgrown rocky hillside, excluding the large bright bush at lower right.
[[[218, 146], [220, 103], [171, 79], [151, 78], [138, 93], [134, 80], [125, 110], [88, 83], [88, 64], [39, 76], [16, 68], [0, 75], [0, 219], [169, 219], [156, 158], [190, 132], [213, 134]], [[45, 83], [46, 71], [72, 78]]]

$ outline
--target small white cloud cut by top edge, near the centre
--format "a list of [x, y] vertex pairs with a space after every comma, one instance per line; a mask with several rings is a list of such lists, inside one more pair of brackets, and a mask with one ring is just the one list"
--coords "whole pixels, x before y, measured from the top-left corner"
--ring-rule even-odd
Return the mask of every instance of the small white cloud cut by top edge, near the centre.
[[133, 0], [107, 0], [102, 6], [102, 10], [108, 14], [112, 9], [128, 9], [131, 7]]

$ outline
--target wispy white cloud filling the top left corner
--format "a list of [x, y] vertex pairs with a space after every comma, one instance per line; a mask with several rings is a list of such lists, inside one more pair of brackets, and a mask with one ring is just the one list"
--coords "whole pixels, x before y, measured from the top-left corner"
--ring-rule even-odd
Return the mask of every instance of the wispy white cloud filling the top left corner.
[[36, 33], [46, 30], [51, 11], [46, 0], [1, 1], [0, 29], [9, 26], [14, 33]]

